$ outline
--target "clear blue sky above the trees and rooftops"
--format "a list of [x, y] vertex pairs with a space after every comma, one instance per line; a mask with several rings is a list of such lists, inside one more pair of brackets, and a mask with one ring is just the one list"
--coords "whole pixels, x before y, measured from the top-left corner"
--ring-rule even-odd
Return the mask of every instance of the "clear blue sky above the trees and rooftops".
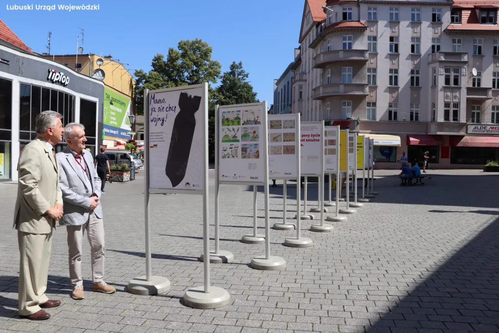
[[[100, 4], [95, 11], [6, 10], [6, 4]], [[273, 103], [273, 79], [293, 61], [304, 0], [5, 0], [0, 17], [31, 49], [74, 54], [79, 27], [84, 53], [111, 54], [127, 68], [151, 68], [156, 53], [179, 40], [201, 38], [226, 71], [242, 61], [260, 100]], [[80, 38], [81, 45], [81, 38]], [[132, 70], [133, 72], [133, 70]]]

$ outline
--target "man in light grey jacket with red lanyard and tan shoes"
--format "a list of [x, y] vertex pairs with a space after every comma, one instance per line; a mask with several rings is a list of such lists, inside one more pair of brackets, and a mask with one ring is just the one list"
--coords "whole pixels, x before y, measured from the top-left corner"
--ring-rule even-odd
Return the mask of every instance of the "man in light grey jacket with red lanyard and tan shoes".
[[67, 228], [69, 276], [72, 298], [82, 300], [81, 244], [87, 232], [92, 252], [92, 290], [112, 294], [116, 289], [104, 282], [104, 222], [99, 198], [100, 178], [93, 165], [92, 154], [85, 149], [85, 127], [70, 123], [64, 127], [67, 148], [56, 155], [60, 166], [60, 189], [64, 215], [59, 224]]

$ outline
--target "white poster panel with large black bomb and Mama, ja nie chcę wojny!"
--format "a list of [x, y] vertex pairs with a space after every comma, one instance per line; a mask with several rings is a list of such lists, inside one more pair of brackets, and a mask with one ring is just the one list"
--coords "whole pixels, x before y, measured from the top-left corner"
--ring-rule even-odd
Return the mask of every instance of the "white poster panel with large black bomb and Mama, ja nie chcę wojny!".
[[205, 93], [203, 85], [149, 91], [146, 168], [151, 190], [203, 191]]

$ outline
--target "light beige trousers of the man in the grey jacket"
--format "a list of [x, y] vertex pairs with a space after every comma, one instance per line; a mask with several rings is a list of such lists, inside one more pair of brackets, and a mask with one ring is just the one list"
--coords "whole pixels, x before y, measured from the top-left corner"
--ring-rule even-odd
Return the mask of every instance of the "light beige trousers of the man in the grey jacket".
[[104, 221], [97, 218], [93, 212], [88, 221], [80, 226], [66, 226], [67, 245], [69, 247], [69, 277], [73, 288], [83, 286], [81, 278], [81, 244], [83, 234], [87, 232], [90, 244], [92, 282], [101, 282], [104, 279]]

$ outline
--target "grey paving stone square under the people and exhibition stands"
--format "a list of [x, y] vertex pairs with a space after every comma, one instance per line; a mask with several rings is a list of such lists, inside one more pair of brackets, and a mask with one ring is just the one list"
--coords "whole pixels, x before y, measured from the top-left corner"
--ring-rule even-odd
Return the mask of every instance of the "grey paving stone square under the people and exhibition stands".
[[[499, 332], [499, 177], [430, 170], [425, 186], [401, 187], [395, 173], [376, 171], [379, 195], [347, 221], [334, 223], [332, 232], [312, 233], [312, 222], [303, 221], [302, 236], [314, 241], [311, 248], [284, 247], [294, 232], [271, 230], [271, 254], [287, 261], [281, 271], [248, 266], [264, 254], [264, 245], [240, 242], [251, 233], [252, 189], [222, 186], [221, 250], [233, 252], [235, 261], [212, 264], [211, 278], [233, 301], [215, 310], [181, 303], [187, 289], [203, 284], [201, 196], [151, 195], [153, 274], [168, 277], [172, 288], [137, 296], [125, 290], [130, 279], [145, 274], [143, 172], [133, 182], [107, 184], [106, 281], [118, 292], [89, 290], [90, 251], [84, 244], [86, 298], [69, 297], [66, 232], [57, 228], [47, 294], [62, 305], [49, 309], [52, 318], [44, 322], [17, 318], [19, 257], [11, 229], [17, 185], [0, 183], [0, 332]], [[213, 170], [210, 177], [213, 205]], [[277, 184], [270, 188], [271, 225], [282, 216]], [[316, 186], [308, 191], [312, 204]], [[293, 196], [291, 184], [290, 223]], [[213, 206], [210, 213], [213, 225]]]

